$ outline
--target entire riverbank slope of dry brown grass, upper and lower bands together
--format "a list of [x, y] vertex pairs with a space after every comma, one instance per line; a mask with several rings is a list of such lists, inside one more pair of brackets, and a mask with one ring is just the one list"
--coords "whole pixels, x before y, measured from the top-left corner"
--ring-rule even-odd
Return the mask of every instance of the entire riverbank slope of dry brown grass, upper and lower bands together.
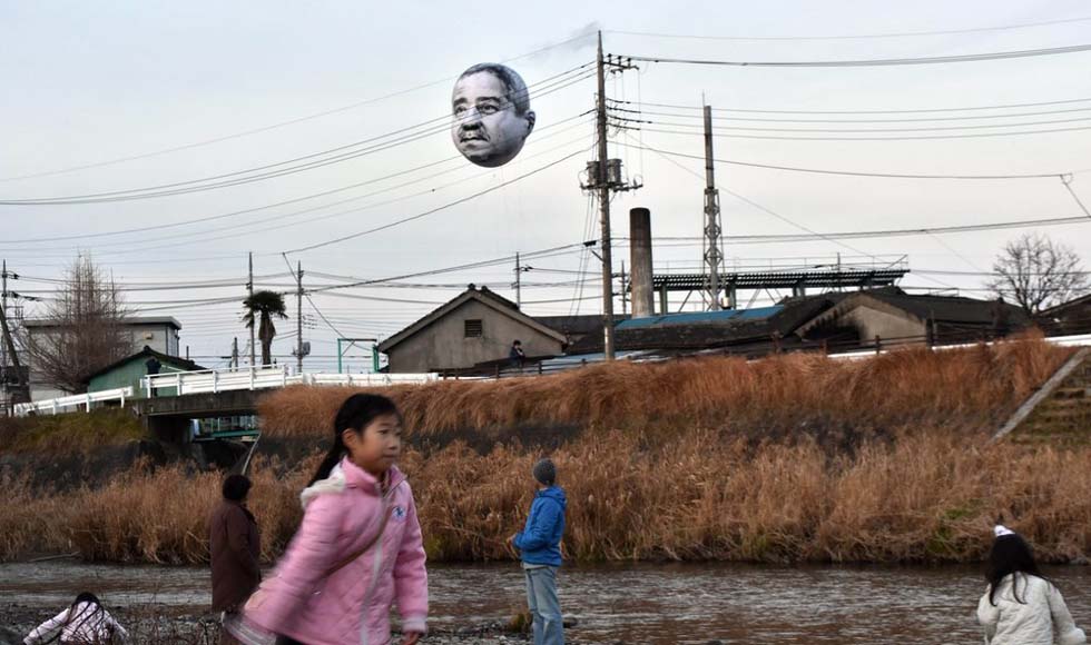
[[[1091, 448], [989, 443], [1067, 355], [1011, 343], [855, 363], [709, 358], [382, 391], [405, 414], [402, 467], [432, 562], [511, 560], [530, 466], [550, 454], [572, 562], [970, 563], [1003, 516], [1041, 559], [1069, 563], [1091, 549]], [[350, 391], [288, 388], [262, 405], [250, 506], [266, 563], [295, 530]], [[77, 490], [11, 479], [0, 558], [203, 564], [220, 477], [138, 464]]]

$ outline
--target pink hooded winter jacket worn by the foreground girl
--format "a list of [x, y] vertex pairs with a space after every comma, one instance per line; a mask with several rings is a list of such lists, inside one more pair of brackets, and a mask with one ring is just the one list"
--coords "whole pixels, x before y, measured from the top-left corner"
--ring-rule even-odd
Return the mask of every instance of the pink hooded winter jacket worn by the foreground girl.
[[[421, 525], [405, 476], [396, 468], [389, 475], [383, 495], [375, 477], [342, 459], [327, 479], [303, 492], [303, 524], [273, 576], [246, 604], [244, 623], [307, 645], [386, 645], [396, 602], [402, 629], [425, 632]], [[390, 519], [382, 538], [325, 577], [372, 539], [384, 513]]]

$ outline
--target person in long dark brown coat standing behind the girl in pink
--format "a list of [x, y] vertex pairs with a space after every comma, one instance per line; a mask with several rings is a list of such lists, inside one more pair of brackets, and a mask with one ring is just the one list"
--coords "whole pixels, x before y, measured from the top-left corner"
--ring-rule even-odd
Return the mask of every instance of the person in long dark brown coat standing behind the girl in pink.
[[[224, 479], [224, 499], [208, 520], [209, 550], [213, 567], [213, 612], [237, 614], [262, 582], [258, 558], [262, 536], [254, 514], [246, 507], [250, 480], [245, 475]], [[222, 632], [222, 645], [237, 643]]]

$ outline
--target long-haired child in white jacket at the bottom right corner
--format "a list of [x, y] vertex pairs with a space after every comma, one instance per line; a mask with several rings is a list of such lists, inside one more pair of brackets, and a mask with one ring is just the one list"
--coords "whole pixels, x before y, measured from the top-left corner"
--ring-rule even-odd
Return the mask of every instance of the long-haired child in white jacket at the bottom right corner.
[[[989, 645], [1083, 645], [1061, 592], [1038, 570], [1022, 536], [997, 525], [985, 577], [989, 588], [977, 603], [977, 621]], [[1054, 641], [1055, 637], [1055, 641]]]

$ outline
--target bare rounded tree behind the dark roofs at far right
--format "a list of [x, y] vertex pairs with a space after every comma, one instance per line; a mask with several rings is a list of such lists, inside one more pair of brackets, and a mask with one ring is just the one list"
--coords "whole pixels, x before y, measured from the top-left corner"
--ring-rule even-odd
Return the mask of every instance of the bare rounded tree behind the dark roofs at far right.
[[1036, 232], [1008, 242], [993, 271], [989, 288], [1031, 315], [1082, 295], [1089, 285], [1080, 256]]

